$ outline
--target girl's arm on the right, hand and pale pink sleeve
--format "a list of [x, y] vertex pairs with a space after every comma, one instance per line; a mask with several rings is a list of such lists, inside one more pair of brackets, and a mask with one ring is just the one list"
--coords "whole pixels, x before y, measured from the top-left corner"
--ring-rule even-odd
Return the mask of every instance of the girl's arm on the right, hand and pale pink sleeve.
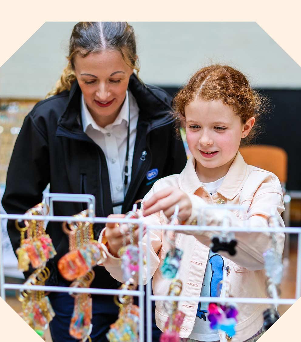
[[[275, 215], [281, 226], [284, 226], [281, 213], [284, 211], [281, 187], [275, 190], [275, 186], [262, 184], [252, 199], [246, 200], [243, 205], [247, 207], [246, 213], [239, 217], [229, 210], [217, 210], [215, 206], [208, 204], [197, 195], [187, 195], [177, 187], [168, 187], [155, 193], [144, 203], [143, 215], [153, 214], [163, 210], [167, 217], [173, 214], [175, 205], [179, 205], [179, 218], [186, 225], [195, 225], [202, 208], [206, 209], [206, 225], [221, 226], [225, 215], [229, 218], [233, 227], [262, 227], [262, 232], [236, 232], [237, 253], [234, 256], [220, 251], [224, 257], [231, 259], [236, 264], [250, 270], [258, 270], [264, 267], [263, 253], [271, 247], [270, 233], [264, 232], [268, 227], [268, 218]], [[229, 229], [230, 230], [230, 229]], [[181, 231], [181, 233], [194, 235], [202, 244], [210, 247], [213, 236], [219, 235], [215, 231]], [[277, 233], [278, 251], [282, 253], [284, 246], [284, 234]]]

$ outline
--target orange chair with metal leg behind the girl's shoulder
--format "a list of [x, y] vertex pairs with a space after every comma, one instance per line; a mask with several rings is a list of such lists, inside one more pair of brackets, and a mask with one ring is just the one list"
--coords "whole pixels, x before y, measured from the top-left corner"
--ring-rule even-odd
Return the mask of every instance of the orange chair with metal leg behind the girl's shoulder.
[[[247, 164], [271, 171], [279, 178], [284, 194], [283, 221], [285, 226], [289, 227], [291, 198], [286, 191], [287, 153], [281, 147], [270, 145], [241, 147], [239, 151]], [[289, 258], [289, 234], [286, 234], [283, 254], [285, 259]]]

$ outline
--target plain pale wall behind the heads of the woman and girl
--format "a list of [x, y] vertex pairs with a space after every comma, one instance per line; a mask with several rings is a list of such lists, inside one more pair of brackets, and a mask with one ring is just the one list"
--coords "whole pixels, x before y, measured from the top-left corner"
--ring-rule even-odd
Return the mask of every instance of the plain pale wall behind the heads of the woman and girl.
[[[75, 22], [47, 22], [1, 67], [1, 97], [43, 98], [66, 64]], [[255, 87], [301, 88], [301, 68], [254, 22], [130, 22], [140, 77], [183, 84], [198, 68], [228, 63]]]

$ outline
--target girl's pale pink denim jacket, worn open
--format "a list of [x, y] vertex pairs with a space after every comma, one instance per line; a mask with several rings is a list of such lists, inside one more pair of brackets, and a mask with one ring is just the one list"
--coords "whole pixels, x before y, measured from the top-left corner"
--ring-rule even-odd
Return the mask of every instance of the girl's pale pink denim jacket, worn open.
[[[207, 192], [195, 173], [195, 160], [191, 157], [180, 174], [171, 175], [156, 181], [145, 196], [144, 200], [150, 198], [160, 189], [168, 186], [179, 187], [186, 192], [191, 199], [192, 213], [186, 225], [195, 224], [204, 205], [211, 204], [212, 209], [206, 210], [207, 225], [221, 225], [225, 212], [216, 210], [214, 205], [240, 205], [240, 211], [227, 211], [232, 226], [262, 227], [261, 233], [241, 232], [235, 233], [237, 240], [236, 255], [231, 257], [227, 252], [219, 252], [225, 258], [227, 282], [230, 284], [231, 297], [255, 297], [266, 298], [266, 276], [264, 271], [263, 252], [271, 246], [269, 233], [264, 232], [268, 226], [267, 218], [276, 215], [281, 225], [284, 226], [281, 213], [284, 211], [283, 193], [278, 178], [271, 172], [247, 165], [239, 152], [225, 176], [222, 185], [213, 196]], [[141, 217], [146, 224], [164, 224], [163, 212], [147, 217]], [[251, 228], [250, 228], [251, 229]], [[100, 264], [106, 267], [110, 274], [122, 281], [122, 272], [119, 259], [113, 257], [106, 245], [104, 228], [99, 236], [99, 242], [104, 248], [107, 259]], [[152, 287], [155, 295], [166, 295], [170, 280], [164, 278], [160, 271], [164, 257], [169, 249], [165, 235], [158, 227], [156, 231], [150, 231], [150, 274], [153, 275]], [[192, 235], [193, 234], [193, 235]], [[198, 297], [201, 293], [206, 263], [208, 259], [209, 246], [214, 232], [185, 231], [184, 234], [176, 234], [176, 246], [183, 250], [181, 265], [178, 272], [182, 280], [183, 288], [181, 295]], [[277, 233], [278, 249], [282, 253], [284, 246], [284, 234]], [[146, 249], [146, 236], [143, 237], [142, 246]], [[146, 284], [146, 266], [143, 270], [143, 279]], [[179, 310], [186, 316], [180, 329], [180, 337], [189, 337], [198, 307], [197, 302], [179, 302]], [[263, 311], [269, 305], [265, 304], [237, 304], [238, 323], [236, 334], [232, 342], [245, 341], [257, 331], [263, 324]], [[156, 301], [156, 324], [163, 330], [167, 313], [163, 302]], [[220, 332], [220, 338], [222, 332]]]

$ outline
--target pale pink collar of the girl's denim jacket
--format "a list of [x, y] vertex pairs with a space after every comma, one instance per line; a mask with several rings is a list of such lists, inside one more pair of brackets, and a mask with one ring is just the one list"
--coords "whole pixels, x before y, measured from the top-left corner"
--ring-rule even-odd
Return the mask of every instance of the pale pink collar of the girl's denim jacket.
[[[237, 151], [230, 169], [217, 192], [228, 200], [232, 200], [243, 188], [247, 177], [247, 164], [240, 152]], [[193, 156], [188, 159], [184, 170], [180, 174], [180, 185], [189, 194], [194, 194], [197, 189], [204, 187], [195, 172], [195, 159]]]

